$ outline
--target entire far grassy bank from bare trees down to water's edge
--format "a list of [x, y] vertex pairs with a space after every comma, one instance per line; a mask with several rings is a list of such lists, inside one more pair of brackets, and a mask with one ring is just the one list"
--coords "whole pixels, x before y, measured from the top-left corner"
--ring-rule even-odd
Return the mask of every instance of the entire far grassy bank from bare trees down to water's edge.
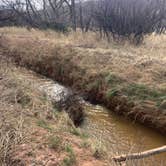
[[19, 65], [72, 86], [91, 101], [166, 132], [166, 58], [163, 36], [140, 47], [98, 41], [93, 33], [2, 28], [1, 45]]

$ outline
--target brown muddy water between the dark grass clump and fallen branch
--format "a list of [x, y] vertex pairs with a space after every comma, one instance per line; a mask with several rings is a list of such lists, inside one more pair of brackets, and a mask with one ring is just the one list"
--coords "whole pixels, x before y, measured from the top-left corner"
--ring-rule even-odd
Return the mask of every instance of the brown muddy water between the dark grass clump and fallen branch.
[[[152, 129], [144, 127], [117, 116], [110, 110], [101, 106], [86, 104], [87, 118], [82, 128], [88, 134], [101, 142], [107, 151], [114, 153], [130, 153], [149, 150], [166, 145], [166, 137], [160, 135]], [[147, 159], [147, 164], [151, 165], [152, 158]], [[166, 154], [153, 157], [154, 165], [161, 165], [165, 162]]]

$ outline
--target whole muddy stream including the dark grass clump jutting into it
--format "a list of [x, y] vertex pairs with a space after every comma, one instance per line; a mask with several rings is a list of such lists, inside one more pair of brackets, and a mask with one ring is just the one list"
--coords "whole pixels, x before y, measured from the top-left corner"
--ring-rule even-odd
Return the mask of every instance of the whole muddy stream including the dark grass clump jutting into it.
[[[104, 147], [107, 152], [125, 154], [160, 147], [166, 143], [165, 137], [152, 129], [117, 116], [105, 107], [90, 104], [71, 89], [33, 71], [22, 70], [17, 73], [17, 79], [33, 85], [33, 88], [40, 90], [56, 106], [67, 111], [73, 122], [76, 122], [75, 125], [79, 125], [93, 140], [100, 143], [99, 149]], [[79, 107], [75, 107], [75, 104]], [[72, 109], [73, 107], [76, 109]], [[78, 117], [81, 120], [79, 123], [75, 121]], [[165, 156], [160, 154], [153, 159], [156, 165], [160, 165]], [[146, 162], [150, 164], [151, 159]]]

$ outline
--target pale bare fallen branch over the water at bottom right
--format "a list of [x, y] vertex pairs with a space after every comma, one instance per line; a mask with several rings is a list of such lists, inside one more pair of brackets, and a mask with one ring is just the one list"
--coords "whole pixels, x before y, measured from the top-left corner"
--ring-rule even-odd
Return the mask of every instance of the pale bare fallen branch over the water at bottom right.
[[166, 145], [159, 148], [152, 149], [152, 150], [140, 152], [140, 153], [116, 156], [116, 157], [113, 157], [112, 159], [115, 162], [122, 162], [126, 160], [141, 159], [141, 158], [149, 157], [149, 156], [156, 155], [163, 152], [166, 152]]

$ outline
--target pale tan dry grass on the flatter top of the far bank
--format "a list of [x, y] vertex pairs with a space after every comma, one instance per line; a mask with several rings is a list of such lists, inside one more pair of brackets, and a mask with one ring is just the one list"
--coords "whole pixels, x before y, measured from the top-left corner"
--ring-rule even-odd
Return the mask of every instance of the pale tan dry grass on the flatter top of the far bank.
[[5, 44], [11, 49], [19, 46], [20, 51], [25, 53], [28, 50], [28, 54], [33, 54], [35, 58], [49, 56], [57, 46], [63, 47], [62, 54], [72, 48], [74, 53], [70, 58], [89, 72], [111, 72], [129, 82], [162, 88], [166, 86], [165, 35], [147, 36], [143, 45], [135, 47], [130, 43], [99, 40], [94, 32], [82, 34], [78, 31], [64, 35], [51, 30], [27, 31], [26, 28], [15, 27], [1, 28], [0, 32], [7, 37]]

